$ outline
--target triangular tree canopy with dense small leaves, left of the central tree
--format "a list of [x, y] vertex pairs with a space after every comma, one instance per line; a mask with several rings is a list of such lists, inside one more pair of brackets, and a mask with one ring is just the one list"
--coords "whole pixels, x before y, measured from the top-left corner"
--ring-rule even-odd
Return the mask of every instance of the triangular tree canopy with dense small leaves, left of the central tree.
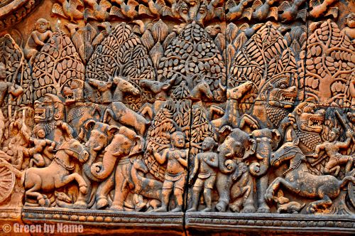
[[[85, 77], [107, 81], [107, 73], [111, 76], [127, 77], [139, 89], [139, 80], [155, 78], [154, 68], [146, 48], [126, 23], [117, 25], [97, 46], [87, 63]], [[139, 109], [140, 98], [128, 96], [126, 100], [133, 109]]]

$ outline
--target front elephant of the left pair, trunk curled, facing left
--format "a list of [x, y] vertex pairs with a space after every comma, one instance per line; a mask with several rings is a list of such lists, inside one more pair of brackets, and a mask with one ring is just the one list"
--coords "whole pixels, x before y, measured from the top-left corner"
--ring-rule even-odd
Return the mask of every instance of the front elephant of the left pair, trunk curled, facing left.
[[124, 200], [129, 189], [133, 188], [130, 181], [130, 158], [140, 154], [143, 145], [143, 139], [136, 132], [126, 127], [120, 127], [111, 144], [104, 149], [102, 161], [92, 165], [92, 174], [103, 181], [97, 188], [97, 209], [105, 208], [109, 204], [107, 195], [112, 189], [114, 189], [114, 201], [111, 209], [124, 209]]

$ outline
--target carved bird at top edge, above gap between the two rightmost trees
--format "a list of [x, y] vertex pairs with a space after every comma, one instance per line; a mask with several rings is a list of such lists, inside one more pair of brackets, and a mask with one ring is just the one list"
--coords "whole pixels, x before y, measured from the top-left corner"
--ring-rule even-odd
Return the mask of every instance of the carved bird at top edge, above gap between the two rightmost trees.
[[278, 11], [283, 11], [282, 14], [279, 14], [281, 21], [293, 21], [297, 18], [301, 18], [302, 21], [306, 21], [307, 10], [298, 10], [304, 3], [305, 0], [295, 0], [293, 1], [293, 4], [290, 4], [288, 1], [283, 1], [283, 3], [278, 6]]

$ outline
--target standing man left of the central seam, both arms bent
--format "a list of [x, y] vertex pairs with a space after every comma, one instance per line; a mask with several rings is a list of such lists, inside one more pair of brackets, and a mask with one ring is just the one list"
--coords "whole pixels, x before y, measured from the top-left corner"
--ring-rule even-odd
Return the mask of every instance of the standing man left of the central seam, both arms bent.
[[152, 146], [148, 148], [158, 163], [163, 164], [168, 161], [165, 180], [163, 183], [162, 205], [155, 212], [167, 212], [170, 195], [173, 192], [176, 199], [176, 208], [170, 212], [180, 212], [182, 210], [182, 194], [184, 193], [186, 182], [186, 168], [188, 149], [185, 147], [185, 134], [182, 132], [174, 132], [171, 135], [171, 148], [164, 149], [163, 154], [159, 154]]

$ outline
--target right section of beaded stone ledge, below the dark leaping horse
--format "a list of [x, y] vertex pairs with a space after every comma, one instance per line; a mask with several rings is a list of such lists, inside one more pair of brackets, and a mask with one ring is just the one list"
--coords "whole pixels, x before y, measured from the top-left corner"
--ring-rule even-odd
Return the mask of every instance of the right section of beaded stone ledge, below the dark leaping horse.
[[[293, 233], [296, 235], [355, 234], [352, 215], [186, 213], [189, 235], [198, 232]], [[261, 231], [262, 230], [262, 231]]]

